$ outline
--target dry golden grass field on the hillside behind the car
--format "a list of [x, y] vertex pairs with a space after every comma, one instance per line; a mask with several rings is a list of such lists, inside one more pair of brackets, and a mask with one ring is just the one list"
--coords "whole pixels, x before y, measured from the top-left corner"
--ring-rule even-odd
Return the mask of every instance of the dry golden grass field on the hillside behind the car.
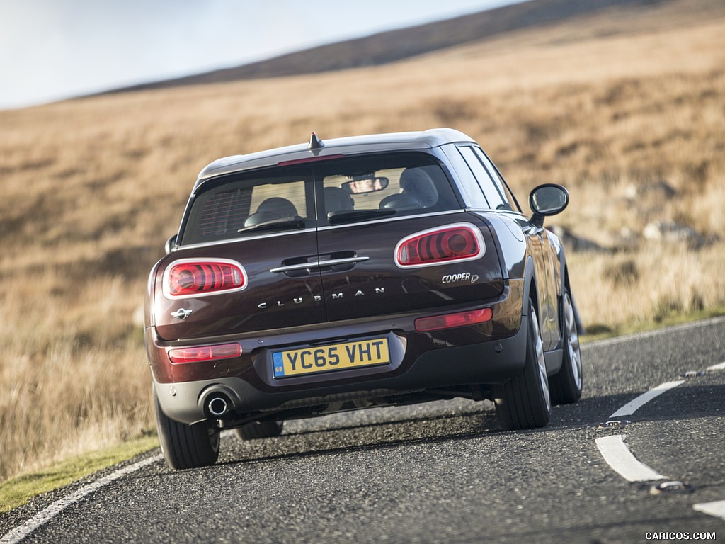
[[566, 185], [549, 224], [596, 244], [568, 250], [590, 331], [722, 308], [725, 9], [699, 4], [382, 67], [0, 112], [0, 482], [153, 432], [138, 308], [196, 173], [310, 131], [451, 126], [526, 210], [535, 185]]

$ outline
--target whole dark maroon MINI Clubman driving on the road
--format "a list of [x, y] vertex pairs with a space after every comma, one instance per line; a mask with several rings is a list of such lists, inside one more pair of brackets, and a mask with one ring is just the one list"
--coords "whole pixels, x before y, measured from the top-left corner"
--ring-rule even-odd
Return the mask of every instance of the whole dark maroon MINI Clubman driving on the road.
[[579, 319], [543, 228], [568, 193], [529, 203], [448, 128], [212, 162], [146, 300], [169, 466], [215, 463], [221, 429], [453, 397], [492, 400], [505, 429], [546, 425], [581, 396]]

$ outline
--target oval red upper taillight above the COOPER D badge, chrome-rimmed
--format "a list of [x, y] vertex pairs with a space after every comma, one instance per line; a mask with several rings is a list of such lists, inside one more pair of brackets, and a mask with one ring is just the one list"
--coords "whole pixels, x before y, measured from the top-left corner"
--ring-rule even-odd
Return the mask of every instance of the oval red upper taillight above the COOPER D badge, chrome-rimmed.
[[395, 263], [400, 268], [433, 266], [478, 259], [485, 250], [479, 228], [459, 223], [416, 232], [402, 239], [395, 247]]

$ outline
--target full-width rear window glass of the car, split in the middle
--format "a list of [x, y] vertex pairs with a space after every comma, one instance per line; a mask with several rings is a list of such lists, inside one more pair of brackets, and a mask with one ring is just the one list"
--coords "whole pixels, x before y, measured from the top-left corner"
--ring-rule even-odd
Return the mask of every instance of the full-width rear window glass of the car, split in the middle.
[[223, 176], [190, 206], [184, 245], [460, 208], [439, 162], [413, 152]]

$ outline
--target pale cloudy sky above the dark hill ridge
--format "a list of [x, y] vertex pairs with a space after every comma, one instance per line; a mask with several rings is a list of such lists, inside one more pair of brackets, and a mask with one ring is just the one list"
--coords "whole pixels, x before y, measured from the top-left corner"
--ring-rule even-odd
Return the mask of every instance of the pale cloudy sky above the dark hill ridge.
[[0, 0], [0, 110], [522, 0]]

